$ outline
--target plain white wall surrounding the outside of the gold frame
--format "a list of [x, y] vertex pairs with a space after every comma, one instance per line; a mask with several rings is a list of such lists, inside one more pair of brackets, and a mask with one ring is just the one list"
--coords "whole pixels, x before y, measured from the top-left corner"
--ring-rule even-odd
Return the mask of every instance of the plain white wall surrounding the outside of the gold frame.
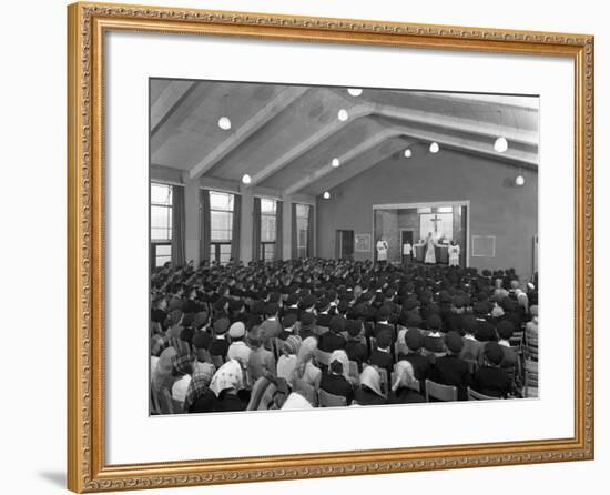
[[[133, 3], [155, 3], [153, 0]], [[597, 184], [610, 186], [610, 34], [607, 2], [583, 0], [159, 0], [180, 7], [301, 13], [393, 21], [501, 27], [597, 36]], [[60, 493], [65, 457], [65, 12], [62, 0], [6, 2], [2, 17], [2, 331], [1, 431], [3, 493]], [[610, 195], [597, 195], [597, 307], [610, 296], [603, 246], [610, 236], [604, 213]], [[597, 461], [557, 465], [430, 472], [340, 479], [175, 489], [171, 493], [606, 493], [610, 361], [608, 316], [598, 311]], [[31, 344], [18, 352], [14, 337]], [[9, 404], [7, 402], [10, 401]], [[527, 488], [526, 488], [527, 487]], [[170, 493], [170, 492], [165, 492]]]

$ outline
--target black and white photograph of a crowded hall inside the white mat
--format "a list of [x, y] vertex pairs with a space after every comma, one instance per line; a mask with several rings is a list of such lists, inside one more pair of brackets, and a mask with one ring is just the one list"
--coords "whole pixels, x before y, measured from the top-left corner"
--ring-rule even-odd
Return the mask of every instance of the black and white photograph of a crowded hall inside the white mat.
[[539, 396], [539, 98], [447, 84], [149, 80], [151, 415]]

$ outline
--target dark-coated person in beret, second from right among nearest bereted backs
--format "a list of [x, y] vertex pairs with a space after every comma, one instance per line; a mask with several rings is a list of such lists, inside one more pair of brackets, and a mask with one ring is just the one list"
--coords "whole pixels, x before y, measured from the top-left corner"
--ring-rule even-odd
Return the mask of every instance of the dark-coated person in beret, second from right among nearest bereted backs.
[[445, 335], [445, 345], [447, 354], [436, 360], [430, 377], [433, 382], [457, 387], [458, 401], [467, 401], [467, 387], [470, 385], [471, 377], [468, 363], [459, 357], [464, 347], [459, 333], [447, 333]]

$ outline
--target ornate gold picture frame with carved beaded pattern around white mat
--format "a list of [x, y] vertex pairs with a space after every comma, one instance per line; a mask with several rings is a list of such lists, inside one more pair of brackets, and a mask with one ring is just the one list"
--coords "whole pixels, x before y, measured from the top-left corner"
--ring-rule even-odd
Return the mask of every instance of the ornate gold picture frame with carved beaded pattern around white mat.
[[[74, 492], [593, 458], [593, 37], [75, 3], [68, 9], [68, 486]], [[576, 73], [575, 436], [157, 464], [104, 463], [103, 39], [112, 30], [571, 58]]]

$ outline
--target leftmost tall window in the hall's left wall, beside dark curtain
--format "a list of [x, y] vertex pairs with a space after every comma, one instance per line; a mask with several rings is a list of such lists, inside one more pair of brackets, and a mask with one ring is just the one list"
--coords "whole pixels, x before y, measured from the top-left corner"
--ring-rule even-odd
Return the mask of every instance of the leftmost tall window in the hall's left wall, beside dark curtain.
[[172, 186], [151, 182], [151, 264], [172, 261]]

